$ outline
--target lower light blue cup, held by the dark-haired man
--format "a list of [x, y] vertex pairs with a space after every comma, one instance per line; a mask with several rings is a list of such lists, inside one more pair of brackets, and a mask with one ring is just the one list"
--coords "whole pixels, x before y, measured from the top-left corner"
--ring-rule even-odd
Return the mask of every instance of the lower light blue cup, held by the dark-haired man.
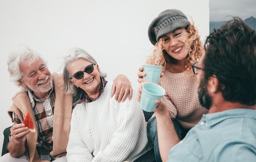
[[141, 109], [147, 112], [152, 112], [157, 107], [155, 100], [161, 99], [165, 94], [163, 87], [152, 82], [144, 82], [142, 84], [140, 106]]

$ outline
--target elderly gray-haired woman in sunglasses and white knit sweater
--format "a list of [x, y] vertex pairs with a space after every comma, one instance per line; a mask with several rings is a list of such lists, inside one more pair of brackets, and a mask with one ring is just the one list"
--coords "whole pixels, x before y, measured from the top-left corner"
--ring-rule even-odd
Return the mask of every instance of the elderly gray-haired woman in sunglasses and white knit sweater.
[[83, 49], [73, 49], [64, 59], [65, 93], [84, 91], [72, 112], [69, 162], [132, 162], [152, 148], [136, 95], [117, 102], [106, 76]]

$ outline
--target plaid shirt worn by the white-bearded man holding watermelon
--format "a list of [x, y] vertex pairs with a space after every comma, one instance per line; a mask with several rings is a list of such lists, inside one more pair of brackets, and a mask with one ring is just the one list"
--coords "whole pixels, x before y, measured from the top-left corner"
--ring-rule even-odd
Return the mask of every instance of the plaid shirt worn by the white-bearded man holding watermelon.
[[[55, 103], [54, 88], [46, 99], [38, 99], [29, 90], [28, 97], [34, 112], [36, 126], [38, 128], [38, 142], [36, 149], [40, 158], [43, 160], [52, 160], [49, 152], [52, 151], [52, 132], [53, 132], [53, 114]], [[12, 113], [13, 125], [22, 123], [18, 115]]]

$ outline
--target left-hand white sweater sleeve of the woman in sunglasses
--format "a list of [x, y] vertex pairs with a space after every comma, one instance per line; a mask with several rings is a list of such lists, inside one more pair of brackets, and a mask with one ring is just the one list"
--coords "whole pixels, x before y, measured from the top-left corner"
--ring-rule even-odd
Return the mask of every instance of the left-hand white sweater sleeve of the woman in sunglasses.
[[67, 144], [68, 162], [90, 162], [92, 160], [92, 154], [88, 150], [87, 146], [83, 143], [83, 140], [79, 133], [80, 109], [80, 104], [77, 104], [72, 112], [70, 135]]

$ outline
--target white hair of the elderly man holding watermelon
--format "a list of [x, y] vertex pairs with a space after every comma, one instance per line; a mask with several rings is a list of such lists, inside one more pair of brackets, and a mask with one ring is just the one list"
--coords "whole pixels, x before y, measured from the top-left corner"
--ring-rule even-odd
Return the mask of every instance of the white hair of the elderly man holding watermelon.
[[[18, 87], [22, 87], [20, 82], [23, 81], [23, 73], [20, 70], [20, 64], [29, 60], [29, 66], [37, 60], [42, 60], [46, 66], [45, 59], [36, 51], [30, 49], [25, 45], [20, 45], [18, 49], [9, 54], [7, 58], [8, 72], [10, 74], [10, 80], [14, 82]], [[28, 87], [22, 87], [25, 91], [28, 91]]]

